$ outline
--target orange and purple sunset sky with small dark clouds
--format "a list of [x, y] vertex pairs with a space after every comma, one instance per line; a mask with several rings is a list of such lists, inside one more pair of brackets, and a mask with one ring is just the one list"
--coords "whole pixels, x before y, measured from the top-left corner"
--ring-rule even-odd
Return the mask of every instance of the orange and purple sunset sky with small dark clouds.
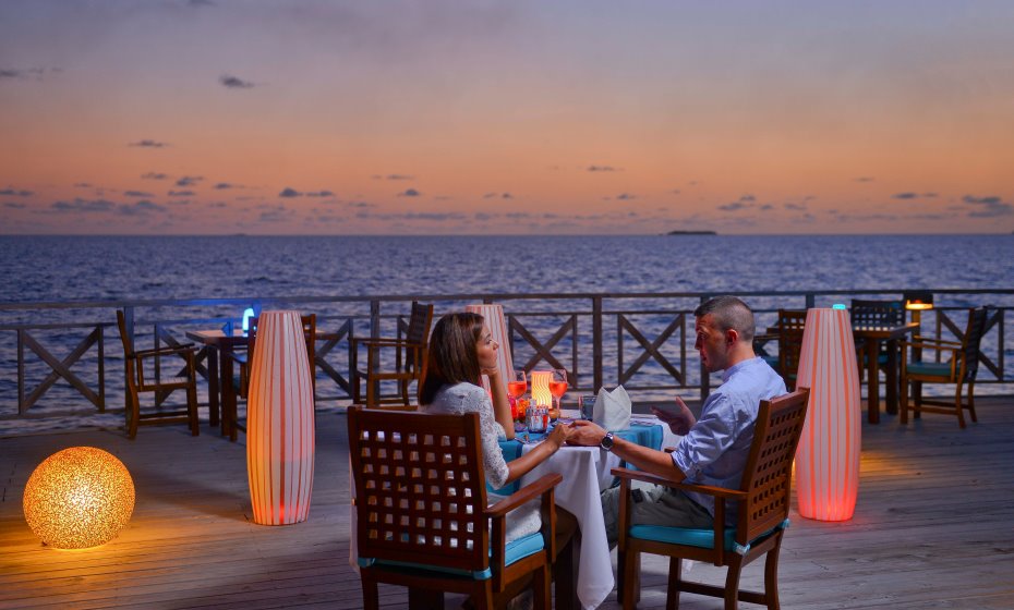
[[0, 233], [1014, 230], [1014, 2], [0, 2]]

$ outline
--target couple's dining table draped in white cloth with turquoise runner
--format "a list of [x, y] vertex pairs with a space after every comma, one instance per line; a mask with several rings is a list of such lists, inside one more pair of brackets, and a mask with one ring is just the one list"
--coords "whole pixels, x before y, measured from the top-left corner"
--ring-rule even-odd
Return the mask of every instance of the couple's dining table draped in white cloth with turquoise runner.
[[[577, 418], [579, 412], [563, 410], [560, 419], [566, 422]], [[637, 442], [651, 449], [675, 447], [679, 437], [653, 416], [638, 415], [623, 430], [615, 430], [616, 436]], [[504, 459], [510, 461], [534, 448], [541, 437], [500, 441]], [[611, 471], [620, 466], [621, 461], [615, 454], [597, 447], [565, 446], [535, 466], [520, 479], [527, 485], [539, 477], [559, 473], [564, 480], [556, 486], [555, 500], [558, 507], [566, 509], [578, 521], [581, 528], [581, 554], [578, 560], [576, 578], [577, 597], [582, 608], [595, 608], [609, 595], [615, 585], [613, 560], [609, 544], [605, 535], [605, 521], [602, 516], [600, 493], [613, 485]], [[505, 490], [498, 490], [504, 493]], [[557, 594], [559, 595], [559, 594]]]

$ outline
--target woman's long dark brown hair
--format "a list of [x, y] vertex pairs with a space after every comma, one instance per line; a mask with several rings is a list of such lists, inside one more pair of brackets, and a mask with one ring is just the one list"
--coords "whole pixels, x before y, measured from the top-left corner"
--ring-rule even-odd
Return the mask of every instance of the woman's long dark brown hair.
[[432, 403], [443, 386], [480, 383], [482, 368], [476, 345], [482, 338], [482, 316], [467, 312], [447, 314], [437, 320], [419, 385], [419, 404]]

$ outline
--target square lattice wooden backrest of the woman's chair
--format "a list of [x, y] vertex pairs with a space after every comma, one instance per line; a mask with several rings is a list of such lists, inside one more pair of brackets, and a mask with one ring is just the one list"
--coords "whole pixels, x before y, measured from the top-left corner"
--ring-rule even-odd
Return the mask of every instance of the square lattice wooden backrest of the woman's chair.
[[488, 569], [479, 414], [351, 406], [348, 419], [360, 561]]

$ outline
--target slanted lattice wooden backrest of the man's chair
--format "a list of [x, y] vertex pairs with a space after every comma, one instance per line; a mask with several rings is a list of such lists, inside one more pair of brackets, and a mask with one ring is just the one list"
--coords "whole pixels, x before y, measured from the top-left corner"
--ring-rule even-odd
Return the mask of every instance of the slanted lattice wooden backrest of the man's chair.
[[736, 532], [739, 544], [745, 545], [788, 517], [793, 459], [802, 434], [809, 395], [809, 388], [801, 388], [761, 401], [740, 486], [748, 498], [739, 505]]

